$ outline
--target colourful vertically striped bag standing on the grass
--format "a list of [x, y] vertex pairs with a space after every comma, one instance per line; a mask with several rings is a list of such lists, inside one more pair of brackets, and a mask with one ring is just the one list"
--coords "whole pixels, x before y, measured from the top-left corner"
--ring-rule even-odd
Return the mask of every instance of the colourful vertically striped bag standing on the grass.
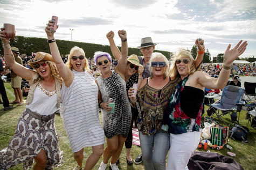
[[211, 127], [211, 142], [212, 145], [224, 146], [229, 139], [229, 127], [222, 127], [216, 124]]

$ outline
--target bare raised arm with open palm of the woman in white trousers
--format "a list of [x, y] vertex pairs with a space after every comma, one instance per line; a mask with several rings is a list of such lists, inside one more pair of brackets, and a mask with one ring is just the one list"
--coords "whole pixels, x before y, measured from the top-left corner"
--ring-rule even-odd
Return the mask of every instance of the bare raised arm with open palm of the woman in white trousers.
[[230, 50], [231, 45], [227, 46], [227, 49], [224, 53], [224, 62], [222, 71], [220, 71], [218, 78], [212, 78], [207, 73], [204, 72], [198, 72], [200, 75], [198, 75], [198, 83], [202, 86], [210, 89], [222, 89], [225, 87], [227, 80], [229, 80], [230, 76], [230, 69], [232, 66], [232, 62], [236, 60], [238, 56], [244, 53], [247, 41], [243, 42], [243, 40], [239, 41], [238, 44]]

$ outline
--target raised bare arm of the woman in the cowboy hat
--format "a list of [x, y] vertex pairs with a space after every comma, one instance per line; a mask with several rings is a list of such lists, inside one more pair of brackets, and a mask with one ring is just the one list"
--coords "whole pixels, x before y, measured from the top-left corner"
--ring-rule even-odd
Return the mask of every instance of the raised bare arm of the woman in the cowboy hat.
[[4, 28], [1, 28], [0, 39], [2, 40], [3, 43], [4, 58], [9, 68], [11, 68], [12, 71], [14, 71], [16, 75], [18, 75], [19, 77], [22, 77], [27, 80], [32, 80], [36, 72], [32, 71], [31, 69], [25, 68], [23, 65], [15, 61], [15, 57], [11, 51], [10, 39], [7, 37]]

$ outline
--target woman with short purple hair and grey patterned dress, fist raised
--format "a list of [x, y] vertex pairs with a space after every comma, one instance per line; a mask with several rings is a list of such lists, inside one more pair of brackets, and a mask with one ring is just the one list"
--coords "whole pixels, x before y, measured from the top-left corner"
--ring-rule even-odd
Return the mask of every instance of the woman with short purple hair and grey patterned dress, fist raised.
[[[102, 73], [95, 81], [99, 87], [99, 107], [107, 137], [107, 147], [99, 167], [103, 170], [106, 169], [110, 157], [110, 168], [119, 169], [115, 162], [120, 156], [132, 120], [125, 82], [128, 55], [126, 31], [121, 30], [118, 34], [122, 41], [121, 58], [114, 71], [111, 70], [112, 57], [108, 53], [97, 51], [94, 54], [94, 61]], [[109, 107], [110, 100], [114, 103], [113, 108]]]

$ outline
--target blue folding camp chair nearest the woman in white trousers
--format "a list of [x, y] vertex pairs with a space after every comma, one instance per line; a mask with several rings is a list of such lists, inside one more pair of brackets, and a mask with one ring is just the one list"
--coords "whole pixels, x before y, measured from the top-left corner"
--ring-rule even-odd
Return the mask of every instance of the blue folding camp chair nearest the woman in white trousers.
[[[222, 119], [223, 116], [226, 114], [230, 114], [234, 112], [234, 110], [237, 110], [237, 105], [244, 104], [244, 102], [240, 101], [241, 97], [244, 94], [244, 89], [238, 86], [225, 86], [223, 88], [222, 97], [218, 102], [215, 102], [214, 104], [211, 104], [210, 107], [214, 108], [215, 112], [213, 114], [216, 114], [216, 117], [212, 117], [213, 114], [210, 116], [212, 119], [219, 119], [222, 121], [225, 125], [226, 123]], [[241, 112], [241, 106], [239, 107], [239, 110]], [[239, 120], [237, 120], [238, 122]], [[239, 122], [238, 122], [239, 123]], [[230, 122], [231, 124], [231, 122]], [[229, 124], [229, 125], [230, 125]]]

